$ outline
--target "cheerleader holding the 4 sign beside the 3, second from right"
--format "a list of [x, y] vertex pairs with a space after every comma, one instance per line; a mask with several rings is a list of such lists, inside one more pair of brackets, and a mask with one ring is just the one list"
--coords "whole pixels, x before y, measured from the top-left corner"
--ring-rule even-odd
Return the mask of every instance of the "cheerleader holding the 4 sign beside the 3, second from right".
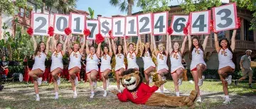
[[198, 37], [194, 36], [191, 39], [191, 35], [188, 35], [188, 50], [190, 51], [191, 57], [191, 73], [193, 80], [195, 81], [195, 88], [198, 91], [198, 98], [196, 102], [201, 102], [200, 89], [199, 86], [203, 85], [203, 71], [206, 70], [206, 62], [203, 60], [203, 52], [206, 50], [206, 44], [209, 35], [206, 35], [206, 38], [203, 40], [203, 45], [200, 44]]

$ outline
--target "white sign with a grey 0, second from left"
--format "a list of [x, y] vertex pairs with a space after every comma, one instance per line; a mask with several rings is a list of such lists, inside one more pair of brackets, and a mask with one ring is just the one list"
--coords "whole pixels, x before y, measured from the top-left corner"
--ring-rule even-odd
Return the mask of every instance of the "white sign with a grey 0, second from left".
[[69, 27], [70, 16], [54, 14], [53, 28], [55, 34], [65, 35], [65, 28]]

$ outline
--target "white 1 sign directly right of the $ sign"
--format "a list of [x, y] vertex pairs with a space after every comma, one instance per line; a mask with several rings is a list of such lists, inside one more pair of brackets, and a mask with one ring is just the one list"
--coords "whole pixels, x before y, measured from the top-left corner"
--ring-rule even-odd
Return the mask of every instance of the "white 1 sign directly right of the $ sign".
[[112, 18], [112, 35], [114, 37], [124, 36], [125, 18]]

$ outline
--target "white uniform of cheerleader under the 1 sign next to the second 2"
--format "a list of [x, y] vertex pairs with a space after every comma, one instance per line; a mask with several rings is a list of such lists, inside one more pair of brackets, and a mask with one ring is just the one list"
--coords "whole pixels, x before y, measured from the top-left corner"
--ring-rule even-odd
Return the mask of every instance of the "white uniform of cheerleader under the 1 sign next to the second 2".
[[136, 54], [135, 52], [128, 52], [127, 53], [127, 62], [128, 62], [128, 67], [127, 69], [139, 69], [139, 66], [136, 63]]

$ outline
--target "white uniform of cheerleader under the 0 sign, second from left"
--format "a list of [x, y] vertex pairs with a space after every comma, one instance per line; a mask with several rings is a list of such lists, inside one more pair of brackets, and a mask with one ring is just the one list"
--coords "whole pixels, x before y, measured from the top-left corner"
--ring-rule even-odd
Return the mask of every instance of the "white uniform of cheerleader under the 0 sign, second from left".
[[63, 69], [63, 54], [62, 52], [53, 52], [52, 56], [52, 64], [50, 66], [50, 72], [52, 72], [53, 70], [60, 68]]

